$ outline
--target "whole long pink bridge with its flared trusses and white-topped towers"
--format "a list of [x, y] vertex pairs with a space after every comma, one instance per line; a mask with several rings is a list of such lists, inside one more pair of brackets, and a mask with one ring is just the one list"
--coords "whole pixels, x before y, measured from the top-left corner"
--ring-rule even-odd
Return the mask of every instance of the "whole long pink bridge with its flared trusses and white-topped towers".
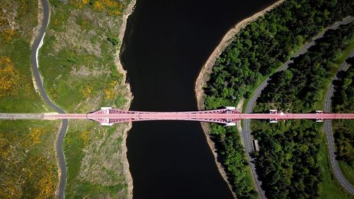
[[114, 123], [137, 122], [148, 120], [189, 120], [207, 123], [219, 123], [232, 126], [243, 119], [268, 119], [270, 122], [278, 120], [309, 119], [316, 121], [334, 119], [354, 119], [354, 113], [278, 113], [272, 110], [270, 113], [241, 113], [234, 107], [226, 107], [217, 110], [199, 110], [184, 112], [147, 112], [118, 110], [103, 107], [93, 113], [0, 113], [2, 120], [94, 120], [101, 125], [113, 125]]

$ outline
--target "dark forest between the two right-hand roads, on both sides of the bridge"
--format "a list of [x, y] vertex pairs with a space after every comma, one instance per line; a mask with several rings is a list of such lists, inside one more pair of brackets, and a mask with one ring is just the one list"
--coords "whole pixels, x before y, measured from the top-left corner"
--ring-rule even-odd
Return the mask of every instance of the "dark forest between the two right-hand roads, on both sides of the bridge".
[[[258, 98], [255, 112], [269, 109], [284, 113], [309, 113], [323, 103], [334, 60], [353, 40], [354, 22], [328, 30], [324, 38], [294, 59], [285, 72], [271, 76]], [[261, 151], [256, 168], [268, 198], [317, 198], [323, 181], [319, 164], [321, 124], [311, 120], [252, 123]]]

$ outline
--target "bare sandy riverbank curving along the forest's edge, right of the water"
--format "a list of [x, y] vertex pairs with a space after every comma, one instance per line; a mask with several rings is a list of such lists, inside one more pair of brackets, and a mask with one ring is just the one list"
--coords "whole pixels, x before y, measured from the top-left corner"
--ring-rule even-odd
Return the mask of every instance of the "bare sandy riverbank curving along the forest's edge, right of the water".
[[[249, 18], [245, 18], [244, 20], [237, 23], [234, 26], [234, 28], [230, 29], [224, 35], [224, 38], [222, 38], [221, 42], [219, 42], [219, 45], [217, 45], [215, 50], [212, 52], [212, 55], [210, 55], [210, 57], [207, 59], [207, 62], [205, 62], [204, 66], [200, 70], [200, 74], [199, 74], [197, 80], [195, 81], [195, 96], [197, 98], [199, 110], [205, 109], [205, 104], [204, 104], [205, 93], [203, 91], [203, 87], [205, 86], [207, 81], [210, 79], [212, 67], [214, 66], [215, 61], [219, 57], [219, 55], [221, 55], [221, 53], [224, 51], [224, 49], [228, 45], [231, 44], [232, 38], [234, 37], [234, 35], [236, 35], [236, 33], [239, 33], [239, 31], [242, 28], [246, 27], [246, 25], [248, 25], [249, 23], [256, 21], [256, 19], [258, 17], [263, 16], [263, 14], [265, 14], [266, 12], [268, 12], [268, 11], [272, 10], [273, 8], [275, 8], [276, 6], [282, 4], [282, 2], [284, 2], [284, 0], [277, 1], [274, 4], [263, 9], [262, 11], [259, 11], [258, 13], [253, 14], [253, 16], [251, 16]], [[209, 130], [209, 126], [207, 125], [207, 123], [202, 123], [202, 129], [205, 132], [205, 137], [207, 137], [207, 143], [209, 144], [210, 149], [212, 150], [212, 154], [215, 157], [215, 163], [217, 164], [217, 168], [219, 170], [219, 173], [222, 175], [222, 178], [224, 178], [224, 181], [227, 182], [230, 191], [232, 191], [234, 197], [236, 198], [236, 193], [234, 193], [234, 191], [232, 190], [231, 184], [227, 180], [227, 175], [226, 175], [226, 172], [224, 171], [224, 166], [222, 166], [222, 164], [219, 163], [219, 161], [217, 161], [217, 152], [216, 152], [216, 148], [215, 148], [215, 143], [212, 142], [212, 140], [210, 139], [210, 130]]]

